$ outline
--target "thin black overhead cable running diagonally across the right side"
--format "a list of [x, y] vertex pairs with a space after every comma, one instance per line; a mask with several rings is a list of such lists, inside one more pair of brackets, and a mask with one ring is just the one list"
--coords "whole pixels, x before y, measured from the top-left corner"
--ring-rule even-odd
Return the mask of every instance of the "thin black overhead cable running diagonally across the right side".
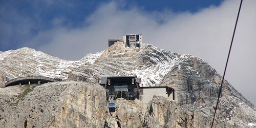
[[238, 18], [239, 18], [240, 10], [241, 10], [241, 7], [242, 7], [242, 3], [243, 3], [243, 0], [241, 0], [240, 7], [239, 7], [239, 10], [238, 10], [238, 16], [237, 16], [236, 25], [234, 26], [233, 36], [232, 36], [230, 48], [229, 48], [229, 51], [228, 51], [226, 66], [225, 66], [223, 78], [222, 78], [222, 81], [221, 81], [221, 88], [220, 88], [218, 100], [217, 100], [217, 103], [216, 103], [215, 112], [214, 112], [214, 119], [212, 119], [211, 128], [212, 128], [212, 126], [214, 125], [214, 120], [215, 120], [215, 116], [216, 116], [216, 112], [217, 112], [217, 107], [218, 107], [218, 103], [219, 103], [220, 96], [221, 96], [221, 90], [222, 90], [222, 86], [223, 86], [223, 82], [224, 82], [224, 78], [225, 78], [225, 74], [226, 74], [226, 70], [227, 70], [228, 59], [229, 59], [230, 52], [231, 52], [231, 48], [232, 48], [232, 44], [233, 44], [234, 33], [236, 33], [236, 28], [237, 28], [237, 24], [238, 24]]

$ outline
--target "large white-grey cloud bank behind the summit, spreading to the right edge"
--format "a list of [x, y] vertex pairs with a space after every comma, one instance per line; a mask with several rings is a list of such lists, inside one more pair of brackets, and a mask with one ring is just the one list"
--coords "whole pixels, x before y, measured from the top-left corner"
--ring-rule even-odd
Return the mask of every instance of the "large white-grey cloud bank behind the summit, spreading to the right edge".
[[[206, 60], [222, 75], [240, 1], [225, 1], [197, 13], [145, 12], [137, 7], [123, 9], [121, 3], [99, 6], [80, 28], [59, 26], [41, 31], [30, 42], [38, 50], [64, 59], [80, 59], [104, 50], [109, 38], [143, 34], [146, 43]], [[63, 20], [63, 19], [61, 19]], [[59, 23], [56, 19], [53, 23]], [[244, 1], [226, 79], [256, 104], [256, 1]], [[33, 42], [33, 43], [32, 43]], [[47, 42], [47, 43], [46, 43]]]

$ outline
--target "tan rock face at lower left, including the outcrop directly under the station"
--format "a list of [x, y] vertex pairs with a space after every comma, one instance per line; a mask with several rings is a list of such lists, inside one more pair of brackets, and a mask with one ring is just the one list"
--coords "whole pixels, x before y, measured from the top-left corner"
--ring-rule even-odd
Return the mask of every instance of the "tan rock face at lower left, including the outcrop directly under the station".
[[[26, 93], [24, 97], [15, 100], [11, 93], [1, 95], [1, 127], [142, 126], [137, 103], [118, 99], [116, 113], [111, 115], [105, 90], [98, 85], [65, 81], [28, 88], [30, 91], [20, 94]], [[133, 119], [138, 121], [131, 122]]]

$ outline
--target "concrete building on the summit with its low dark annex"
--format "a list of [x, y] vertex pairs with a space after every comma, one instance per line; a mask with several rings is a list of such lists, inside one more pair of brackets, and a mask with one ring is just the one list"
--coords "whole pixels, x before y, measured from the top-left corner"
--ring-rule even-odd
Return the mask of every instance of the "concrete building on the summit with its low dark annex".
[[142, 46], [142, 34], [123, 35], [122, 39], [109, 39], [109, 47], [116, 42], [123, 42], [125, 47], [140, 48]]

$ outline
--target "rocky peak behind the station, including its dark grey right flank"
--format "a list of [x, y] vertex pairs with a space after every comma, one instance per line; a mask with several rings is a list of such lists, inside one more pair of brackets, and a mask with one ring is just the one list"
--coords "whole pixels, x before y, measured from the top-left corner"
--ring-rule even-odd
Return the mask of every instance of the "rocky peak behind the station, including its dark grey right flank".
[[[205, 119], [199, 120], [205, 125], [212, 119], [222, 79], [215, 69], [198, 57], [168, 52], [152, 45], [144, 45], [141, 49], [124, 48], [122, 44], [111, 46], [93, 65], [81, 66], [75, 71], [83, 72], [82, 77], [92, 83], [97, 83], [101, 76], [137, 75], [142, 86], [172, 87], [175, 101], [187, 113], [202, 114]], [[227, 81], [224, 81], [222, 91], [218, 121], [231, 127], [247, 127], [256, 122], [256, 109], [252, 103]]]

